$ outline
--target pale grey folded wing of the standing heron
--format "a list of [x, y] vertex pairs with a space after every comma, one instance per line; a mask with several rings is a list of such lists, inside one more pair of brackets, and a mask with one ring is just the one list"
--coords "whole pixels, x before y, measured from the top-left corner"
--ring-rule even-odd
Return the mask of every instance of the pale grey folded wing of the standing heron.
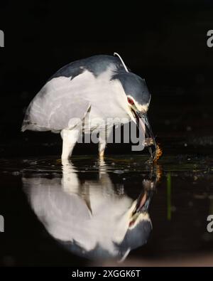
[[75, 126], [90, 107], [91, 75], [86, 71], [75, 79], [60, 76], [49, 80], [28, 106], [21, 130], [58, 132]]

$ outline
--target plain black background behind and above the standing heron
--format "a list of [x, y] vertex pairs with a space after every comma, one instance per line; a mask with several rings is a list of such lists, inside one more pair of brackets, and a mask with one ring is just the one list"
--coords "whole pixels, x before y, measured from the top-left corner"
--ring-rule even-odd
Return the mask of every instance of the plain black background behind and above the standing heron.
[[165, 147], [212, 144], [212, 1], [4, 1], [0, 28], [1, 156], [60, 154], [59, 135], [20, 132], [28, 103], [58, 68], [114, 51], [146, 79]]

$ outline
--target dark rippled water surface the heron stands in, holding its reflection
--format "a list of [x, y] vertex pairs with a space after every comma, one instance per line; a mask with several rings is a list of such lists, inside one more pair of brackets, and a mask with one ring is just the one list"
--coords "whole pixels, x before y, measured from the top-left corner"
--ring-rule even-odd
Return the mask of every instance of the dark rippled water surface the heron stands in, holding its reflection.
[[[153, 230], [145, 245], [141, 245], [142, 228], [137, 230], [136, 245], [129, 239], [133, 249], [126, 261], [212, 254], [213, 234], [207, 232], [207, 216], [213, 214], [212, 158], [170, 154], [155, 166], [145, 164], [146, 159], [146, 155], [107, 155], [100, 162], [95, 156], [75, 156], [63, 165], [57, 157], [1, 159], [5, 222], [5, 232], [0, 233], [1, 265], [88, 265], [101, 257], [120, 260], [128, 247], [123, 246], [118, 256], [109, 254], [110, 241], [122, 240], [116, 238], [113, 220], [117, 216], [116, 224], [121, 222], [117, 209], [124, 208], [124, 213], [144, 193], [144, 181], [153, 193], [149, 206]], [[99, 238], [104, 235], [109, 243]], [[68, 241], [72, 236], [74, 243]], [[93, 242], [88, 244], [89, 239]]]

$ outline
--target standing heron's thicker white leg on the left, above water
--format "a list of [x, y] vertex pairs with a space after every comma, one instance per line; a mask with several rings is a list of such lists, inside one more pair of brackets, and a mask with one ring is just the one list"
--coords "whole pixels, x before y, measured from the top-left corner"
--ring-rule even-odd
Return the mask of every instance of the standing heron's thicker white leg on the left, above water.
[[80, 136], [80, 129], [62, 129], [60, 134], [63, 140], [61, 158], [68, 159], [72, 155], [72, 150]]

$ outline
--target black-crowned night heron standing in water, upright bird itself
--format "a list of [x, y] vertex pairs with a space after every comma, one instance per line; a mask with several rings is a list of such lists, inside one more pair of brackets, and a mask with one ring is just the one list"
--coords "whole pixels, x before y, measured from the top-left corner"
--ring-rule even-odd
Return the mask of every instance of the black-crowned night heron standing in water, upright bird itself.
[[[28, 106], [22, 131], [60, 132], [62, 159], [68, 159], [82, 131], [89, 133], [96, 129], [99, 131], [99, 156], [103, 157], [113, 127], [107, 120], [116, 120], [114, 124], [118, 120], [123, 123], [123, 120], [133, 120], [138, 121], [138, 127], [151, 139], [149, 144], [156, 151], [146, 115], [151, 100], [146, 82], [126, 68], [117, 53], [114, 55], [94, 55], [58, 70]], [[88, 116], [89, 122], [80, 126], [80, 121]], [[97, 124], [97, 119], [104, 122]], [[146, 146], [146, 141], [144, 143]], [[155, 158], [155, 151], [150, 150], [152, 158]]]

